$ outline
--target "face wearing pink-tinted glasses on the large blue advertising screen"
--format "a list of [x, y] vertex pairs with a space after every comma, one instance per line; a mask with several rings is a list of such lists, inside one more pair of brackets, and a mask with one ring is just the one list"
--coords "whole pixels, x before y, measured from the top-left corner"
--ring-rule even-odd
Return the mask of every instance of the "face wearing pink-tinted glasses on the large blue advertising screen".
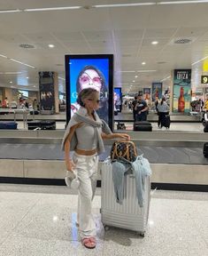
[[80, 78], [80, 90], [86, 89], [86, 88], [93, 88], [97, 92], [100, 92], [102, 87], [102, 78], [97, 74], [96, 70], [94, 69], [87, 69], [85, 70]]

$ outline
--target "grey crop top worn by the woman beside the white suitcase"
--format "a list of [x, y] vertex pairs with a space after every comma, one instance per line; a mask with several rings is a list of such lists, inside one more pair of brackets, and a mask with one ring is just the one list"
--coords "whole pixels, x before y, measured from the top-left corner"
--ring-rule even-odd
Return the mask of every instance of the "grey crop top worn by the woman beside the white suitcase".
[[[99, 132], [102, 130], [99, 129]], [[82, 123], [82, 125], [75, 130], [76, 137], [77, 137], [77, 149], [82, 150], [93, 150], [95, 149], [97, 138], [96, 138], [96, 129], [86, 123]]]

